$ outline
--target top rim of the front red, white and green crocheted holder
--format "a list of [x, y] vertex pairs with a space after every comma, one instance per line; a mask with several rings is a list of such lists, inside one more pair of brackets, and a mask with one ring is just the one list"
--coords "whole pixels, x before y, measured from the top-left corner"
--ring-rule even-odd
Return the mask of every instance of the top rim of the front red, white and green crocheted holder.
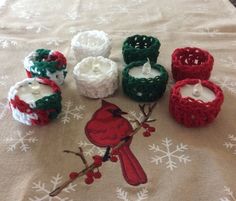
[[[36, 102], [42, 102], [42, 101], [48, 99], [49, 97], [53, 96], [53, 95], [56, 94], [56, 93], [61, 93], [61, 90], [60, 90], [59, 86], [58, 86], [55, 82], [53, 82], [53, 81], [51, 81], [51, 80], [49, 80], [49, 79], [46, 79], [46, 78], [38, 78], [38, 77], [35, 77], [35, 78], [26, 78], [26, 79], [24, 79], [24, 80], [22, 80], [22, 81], [20, 81], [20, 82], [17, 82], [14, 86], [12, 86], [12, 87], [10, 88], [9, 93], [8, 93], [8, 100], [10, 101], [11, 99], [14, 99], [15, 96], [17, 96], [17, 95], [16, 95], [16, 94], [17, 94], [17, 89], [18, 89], [19, 87], [21, 87], [22, 85], [26, 85], [26, 84], [29, 83], [29, 82], [33, 82], [34, 80], [36, 80], [36, 81], [39, 82], [40, 84], [48, 85], [48, 86], [51, 87], [51, 89], [52, 89], [52, 94], [51, 94], [51, 95], [49, 95], [49, 96], [44, 96], [43, 98], [40, 98], [40, 99], [36, 100]], [[20, 99], [20, 97], [19, 97], [19, 100], [25, 102], [24, 100]], [[28, 104], [29, 104], [29, 103], [28, 103]], [[29, 104], [29, 106], [32, 106], [32, 105]]]

